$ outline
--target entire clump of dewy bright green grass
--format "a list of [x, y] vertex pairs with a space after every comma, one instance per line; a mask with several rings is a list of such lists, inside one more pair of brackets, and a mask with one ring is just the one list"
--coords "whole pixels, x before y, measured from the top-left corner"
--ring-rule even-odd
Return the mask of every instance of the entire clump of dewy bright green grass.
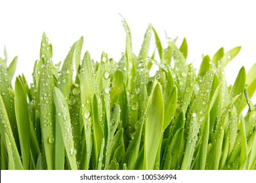
[[256, 169], [256, 64], [247, 74], [242, 67], [227, 86], [224, 67], [240, 47], [203, 56], [196, 72], [186, 63], [186, 39], [180, 47], [167, 39], [163, 48], [149, 25], [136, 56], [122, 23], [126, 47], [119, 62], [105, 52], [98, 62], [89, 52], [81, 59], [81, 37], [54, 65], [43, 33], [32, 84], [20, 75], [12, 88], [17, 57], [7, 65], [5, 50], [1, 169]]

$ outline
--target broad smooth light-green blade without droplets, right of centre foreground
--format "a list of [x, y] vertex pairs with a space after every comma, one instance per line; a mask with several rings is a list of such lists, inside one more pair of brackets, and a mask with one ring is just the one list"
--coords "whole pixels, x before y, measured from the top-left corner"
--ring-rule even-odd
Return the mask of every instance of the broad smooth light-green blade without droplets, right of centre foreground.
[[148, 101], [144, 131], [144, 169], [153, 169], [158, 144], [161, 142], [164, 116], [163, 96], [160, 84], [156, 84]]

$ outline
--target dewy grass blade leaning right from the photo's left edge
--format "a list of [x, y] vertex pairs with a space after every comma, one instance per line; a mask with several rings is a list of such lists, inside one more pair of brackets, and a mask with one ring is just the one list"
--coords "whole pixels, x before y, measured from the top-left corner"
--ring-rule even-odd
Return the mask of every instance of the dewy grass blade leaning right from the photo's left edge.
[[4, 142], [5, 148], [7, 150], [9, 158], [8, 169], [22, 170], [22, 162], [20, 161], [20, 154], [14, 140], [14, 136], [11, 130], [11, 124], [7, 115], [7, 110], [5, 109], [5, 104], [3, 103], [3, 98], [0, 95], [0, 133], [1, 141]]

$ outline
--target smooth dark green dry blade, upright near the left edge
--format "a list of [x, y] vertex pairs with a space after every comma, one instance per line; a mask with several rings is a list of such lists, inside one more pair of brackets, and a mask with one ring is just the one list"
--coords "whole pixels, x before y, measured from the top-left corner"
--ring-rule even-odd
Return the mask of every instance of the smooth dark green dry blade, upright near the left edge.
[[16, 78], [15, 81], [14, 104], [22, 152], [22, 163], [24, 169], [28, 170], [30, 167], [30, 118], [28, 114], [27, 96], [20, 78]]

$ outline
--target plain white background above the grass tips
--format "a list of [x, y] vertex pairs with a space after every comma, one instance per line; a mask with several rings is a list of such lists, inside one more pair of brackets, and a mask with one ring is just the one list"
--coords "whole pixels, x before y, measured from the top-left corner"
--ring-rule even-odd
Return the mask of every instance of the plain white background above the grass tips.
[[[151, 23], [163, 46], [165, 31], [171, 38], [188, 42], [188, 62], [198, 68], [202, 54], [213, 56], [242, 46], [240, 54], [226, 67], [233, 84], [242, 65], [249, 71], [256, 62], [256, 10], [254, 1], [0, 1], [0, 56], [7, 47], [9, 63], [18, 56], [16, 73], [31, 82], [33, 63], [39, 58], [43, 31], [53, 44], [53, 61], [64, 60], [70, 46], [83, 36], [83, 51], [98, 60], [102, 50], [118, 60], [125, 51], [121, 13], [139, 53], [144, 32]], [[179, 46], [179, 45], [178, 45]], [[154, 48], [154, 37], [152, 37]], [[255, 102], [255, 98], [253, 101]]]

